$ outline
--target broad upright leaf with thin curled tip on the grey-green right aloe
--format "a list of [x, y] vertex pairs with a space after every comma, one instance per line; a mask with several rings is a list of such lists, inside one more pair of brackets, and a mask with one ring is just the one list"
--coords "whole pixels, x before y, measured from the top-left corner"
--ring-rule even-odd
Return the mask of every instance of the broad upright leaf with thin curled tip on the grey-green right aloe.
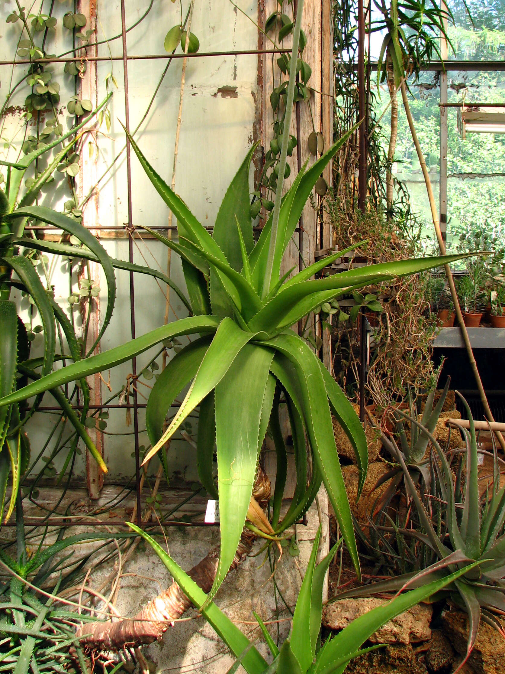
[[465, 398], [458, 392], [461, 402], [467, 410], [470, 422], [470, 432], [465, 429], [467, 445], [467, 484], [465, 503], [463, 504], [463, 517], [461, 518], [461, 538], [465, 541], [465, 553], [472, 559], [477, 559], [481, 553], [481, 509], [479, 503], [479, 476], [477, 466], [477, 439], [475, 426], [469, 405]]

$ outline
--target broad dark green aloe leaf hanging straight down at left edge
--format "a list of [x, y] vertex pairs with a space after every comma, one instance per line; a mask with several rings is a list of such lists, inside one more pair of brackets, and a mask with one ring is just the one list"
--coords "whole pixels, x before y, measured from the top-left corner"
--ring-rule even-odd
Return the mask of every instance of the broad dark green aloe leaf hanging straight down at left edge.
[[[18, 363], [18, 311], [8, 300], [0, 300], [0, 335], [0, 396], [3, 398], [15, 387]], [[0, 450], [9, 427], [9, 416], [9, 408], [0, 407]]]

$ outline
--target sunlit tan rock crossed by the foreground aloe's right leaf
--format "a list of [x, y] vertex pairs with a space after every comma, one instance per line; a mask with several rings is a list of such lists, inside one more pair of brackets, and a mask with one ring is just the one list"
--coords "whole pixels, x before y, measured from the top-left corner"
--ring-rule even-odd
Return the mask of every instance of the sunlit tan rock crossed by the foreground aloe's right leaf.
[[[323, 625], [331, 630], [343, 630], [360, 615], [387, 602], [387, 599], [377, 599], [372, 596], [334, 601], [325, 606]], [[411, 644], [428, 641], [432, 636], [431, 619], [432, 607], [428, 604], [417, 604], [397, 615], [389, 623], [382, 625], [375, 634], [372, 634], [370, 642], [372, 644]]]

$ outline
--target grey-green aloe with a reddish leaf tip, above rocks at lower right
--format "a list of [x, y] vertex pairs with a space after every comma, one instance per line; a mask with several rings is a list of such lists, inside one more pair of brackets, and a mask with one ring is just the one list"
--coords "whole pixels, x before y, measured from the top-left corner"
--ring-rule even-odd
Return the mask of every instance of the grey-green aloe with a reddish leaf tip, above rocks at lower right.
[[[475, 427], [467, 401], [459, 393], [458, 395], [465, 406], [470, 428], [461, 429], [466, 441], [466, 470], [462, 471], [463, 466], [460, 464], [456, 479], [446, 455], [432, 433], [415, 419], [410, 419], [411, 424], [417, 425], [421, 435], [432, 443], [436, 451], [431, 461], [431, 488], [426, 501], [423, 501], [417, 493], [411, 477], [411, 467], [405, 462], [403, 452], [397, 448], [394, 441], [384, 435], [382, 441], [389, 446], [391, 454], [396, 457], [403, 470], [407, 493], [419, 517], [421, 528], [417, 531], [411, 530], [410, 534], [430, 549], [433, 558], [439, 559], [440, 566], [436, 569], [434, 577], [447, 578], [451, 570], [457, 568], [463, 561], [474, 560], [478, 564], [472, 572], [461, 576], [458, 580], [452, 580], [440, 594], [440, 598], [450, 597], [468, 613], [468, 657], [475, 644], [481, 620], [492, 625], [500, 634], [505, 634], [501, 624], [501, 617], [505, 611], [505, 487], [500, 489], [498, 454], [492, 435], [494, 450], [492, 480], [490, 479], [483, 494], [479, 495]], [[462, 472], [465, 472], [465, 478], [462, 477]], [[432, 520], [436, 520], [435, 523]], [[401, 530], [401, 534], [408, 535], [409, 531]], [[457, 555], [459, 559], [456, 559]], [[416, 583], [426, 582], [426, 571], [422, 572], [422, 575], [404, 574], [391, 580], [373, 583], [366, 588], [349, 590], [336, 599], [396, 591], [406, 582], [413, 583], [414, 586]]]

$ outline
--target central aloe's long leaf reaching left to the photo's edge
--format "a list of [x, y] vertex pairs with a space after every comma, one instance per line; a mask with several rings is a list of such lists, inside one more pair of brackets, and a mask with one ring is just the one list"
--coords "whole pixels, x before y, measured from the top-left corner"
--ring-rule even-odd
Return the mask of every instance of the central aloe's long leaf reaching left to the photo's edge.
[[52, 372], [38, 381], [33, 381], [32, 384], [28, 384], [28, 386], [24, 386], [24, 388], [11, 393], [9, 396], [1, 398], [0, 406], [25, 400], [50, 388], [68, 384], [69, 381], [89, 377], [96, 372], [121, 365], [121, 363], [128, 361], [131, 357], [138, 356], [143, 351], [159, 344], [165, 339], [172, 339], [180, 335], [215, 332], [219, 323], [220, 319], [215, 316], [191, 316], [189, 318], [182, 318], [179, 321], [173, 321], [166, 326], [160, 326], [160, 328], [151, 330], [151, 332], [147, 332], [147, 334], [141, 337], [121, 344], [121, 346], [115, 346], [96, 356], [90, 356], [78, 363], [67, 365], [67, 367]]

